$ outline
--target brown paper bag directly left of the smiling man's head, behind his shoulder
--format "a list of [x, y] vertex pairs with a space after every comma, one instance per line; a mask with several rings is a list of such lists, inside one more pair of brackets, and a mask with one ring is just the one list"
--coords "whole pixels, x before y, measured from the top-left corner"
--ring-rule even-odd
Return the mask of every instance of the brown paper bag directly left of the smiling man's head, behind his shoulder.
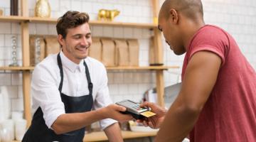
[[58, 43], [57, 36], [48, 35], [46, 36], [46, 57], [49, 54], [55, 54], [60, 52], [60, 45]]

